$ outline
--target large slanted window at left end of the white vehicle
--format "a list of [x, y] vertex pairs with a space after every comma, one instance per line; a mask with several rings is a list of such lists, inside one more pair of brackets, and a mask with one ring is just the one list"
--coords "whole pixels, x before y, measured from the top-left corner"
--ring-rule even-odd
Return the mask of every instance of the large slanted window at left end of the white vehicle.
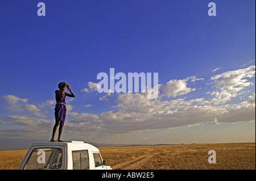
[[62, 166], [62, 149], [37, 148], [32, 151], [24, 170], [60, 169]]

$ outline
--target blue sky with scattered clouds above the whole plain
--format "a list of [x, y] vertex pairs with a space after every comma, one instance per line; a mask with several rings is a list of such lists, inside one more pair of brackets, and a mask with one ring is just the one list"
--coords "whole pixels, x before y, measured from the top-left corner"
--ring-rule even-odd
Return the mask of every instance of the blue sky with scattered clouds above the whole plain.
[[[255, 1], [209, 2], [1, 1], [0, 149], [51, 138], [63, 81], [63, 140], [255, 142]], [[110, 68], [158, 73], [158, 98], [98, 93]]]

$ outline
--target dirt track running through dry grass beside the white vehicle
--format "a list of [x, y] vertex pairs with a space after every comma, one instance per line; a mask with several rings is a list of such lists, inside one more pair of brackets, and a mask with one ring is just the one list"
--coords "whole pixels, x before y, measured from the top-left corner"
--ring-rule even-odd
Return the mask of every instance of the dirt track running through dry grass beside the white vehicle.
[[127, 161], [125, 163], [120, 163], [118, 165], [113, 166], [113, 170], [139, 170], [143, 169], [144, 165], [150, 163], [150, 160], [155, 158], [159, 153], [148, 153], [144, 154], [139, 158], [133, 159], [131, 161]]

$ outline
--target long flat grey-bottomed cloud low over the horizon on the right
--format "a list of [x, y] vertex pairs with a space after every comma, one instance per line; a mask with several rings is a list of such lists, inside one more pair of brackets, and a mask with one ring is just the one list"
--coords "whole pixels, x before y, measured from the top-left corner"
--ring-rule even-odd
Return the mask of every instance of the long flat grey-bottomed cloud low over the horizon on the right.
[[[133, 94], [130, 94], [133, 96]], [[137, 96], [138, 97], [138, 96]], [[204, 99], [150, 101], [121, 104], [116, 111], [99, 116], [109, 134], [167, 129], [196, 124], [221, 124], [255, 119], [255, 104], [249, 102], [213, 106]]]

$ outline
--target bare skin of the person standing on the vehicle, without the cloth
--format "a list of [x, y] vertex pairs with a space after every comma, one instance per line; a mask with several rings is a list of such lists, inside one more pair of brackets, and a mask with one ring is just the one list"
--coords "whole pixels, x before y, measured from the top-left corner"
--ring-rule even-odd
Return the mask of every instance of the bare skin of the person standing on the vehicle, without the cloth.
[[[71, 92], [71, 94], [68, 94], [67, 92], [65, 92], [66, 87], [67, 87], [67, 89]], [[60, 91], [59, 91], [59, 90], [56, 90], [56, 91], [55, 91], [56, 103], [59, 103], [60, 100], [61, 100], [61, 95], [60, 95], [60, 94], [62, 94], [62, 95], [65, 94], [66, 96], [75, 98], [75, 94], [74, 94], [73, 91], [70, 89], [70, 87], [69, 87], [68, 84], [64, 84], [63, 87], [60, 87]], [[63, 131], [63, 125], [60, 124], [60, 122], [61, 122], [61, 121], [56, 122], [55, 125], [54, 125], [54, 127], [53, 127], [51, 142], [56, 142], [55, 139], [54, 139], [54, 137], [55, 137], [55, 133], [56, 133], [56, 131], [57, 131], [57, 127], [58, 127], [58, 126], [60, 126], [60, 127], [59, 127], [59, 135], [58, 135], [57, 141], [63, 142], [63, 141], [61, 141], [61, 139], [60, 139], [61, 133], [62, 133], [62, 131]]]

